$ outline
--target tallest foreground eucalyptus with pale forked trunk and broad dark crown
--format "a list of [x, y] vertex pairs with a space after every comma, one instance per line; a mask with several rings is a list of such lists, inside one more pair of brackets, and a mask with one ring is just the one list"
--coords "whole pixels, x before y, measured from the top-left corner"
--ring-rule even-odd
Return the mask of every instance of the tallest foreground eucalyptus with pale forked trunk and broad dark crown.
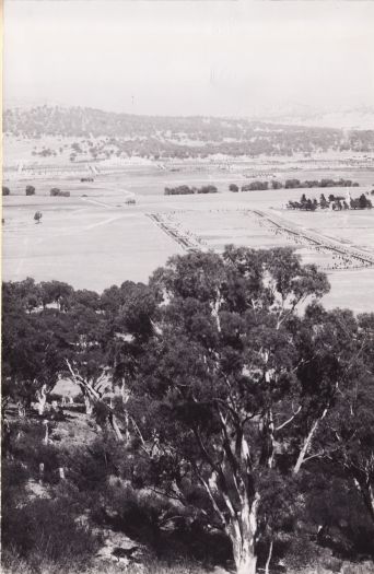
[[199, 484], [237, 572], [254, 573], [270, 507], [282, 505], [276, 484], [288, 491], [304, 445], [297, 452], [283, 433], [309, 413], [296, 309], [323, 296], [327, 279], [291, 249], [227, 247], [174, 257], [150, 284], [159, 317], [132, 386], [142, 450], [170, 495], [182, 500], [186, 481]]

